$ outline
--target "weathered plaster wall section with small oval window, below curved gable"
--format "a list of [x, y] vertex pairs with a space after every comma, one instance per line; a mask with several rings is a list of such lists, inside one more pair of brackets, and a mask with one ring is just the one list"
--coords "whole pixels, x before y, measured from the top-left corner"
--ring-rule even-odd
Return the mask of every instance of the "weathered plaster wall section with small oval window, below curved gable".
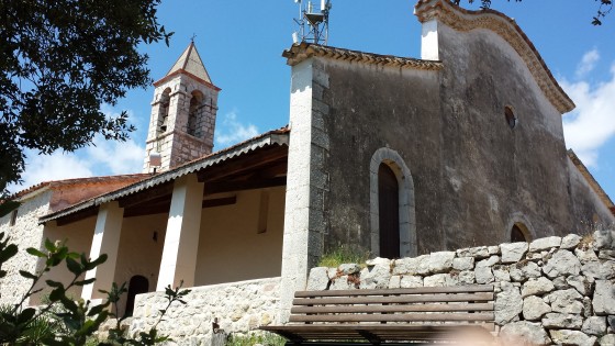
[[[537, 236], [577, 228], [567, 191], [561, 115], [514, 48], [487, 30], [438, 27], [445, 68], [443, 201], [447, 247], [503, 242], [513, 214]], [[504, 108], [518, 124], [510, 129]], [[483, 232], [460, 232], [484, 230]]]

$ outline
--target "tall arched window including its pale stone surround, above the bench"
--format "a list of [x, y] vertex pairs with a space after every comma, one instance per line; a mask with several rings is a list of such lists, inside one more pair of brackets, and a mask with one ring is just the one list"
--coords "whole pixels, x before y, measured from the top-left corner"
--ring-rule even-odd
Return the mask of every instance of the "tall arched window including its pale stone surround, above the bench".
[[416, 255], [414, 183], [402, 157], [376, 150], [370, 161], [371, 252], [381, 257]]

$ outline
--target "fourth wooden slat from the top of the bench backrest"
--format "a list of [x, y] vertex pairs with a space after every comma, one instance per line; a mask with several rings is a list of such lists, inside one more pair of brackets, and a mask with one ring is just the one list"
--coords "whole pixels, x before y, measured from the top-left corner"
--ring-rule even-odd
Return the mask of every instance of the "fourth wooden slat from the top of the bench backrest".
[[418, 322], [418, 321], [493, 321], [493, 312], [424, 314], [336, 314], [291, 315], [289, 322]]

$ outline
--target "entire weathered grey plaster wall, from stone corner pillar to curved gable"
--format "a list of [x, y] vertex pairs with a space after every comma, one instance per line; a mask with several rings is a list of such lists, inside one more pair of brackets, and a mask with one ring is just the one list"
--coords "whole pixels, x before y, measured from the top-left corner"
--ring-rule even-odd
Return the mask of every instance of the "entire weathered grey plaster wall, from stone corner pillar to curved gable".
[[584, 231], [580, 221], [600, 202], [572, 194], [583, 192], [570, 188], [561, 114], [524, 60], [491, 31], [437, 30], [438, 71], [325, 57], [300, 64], [312, 69], [304, 121], [320, 131], [305, 135], [326, 144], [311, 154], [323, 167], [311, 171], [325, 172], [325, 187], [310, 193], [324, 205], [324, 231], [311, 230], [324, 238], [321, 249], [374, 248], [369, 159], [383, 147], [412, 175], [418, 253], [505, 242], [515, 223], [532, 237]]

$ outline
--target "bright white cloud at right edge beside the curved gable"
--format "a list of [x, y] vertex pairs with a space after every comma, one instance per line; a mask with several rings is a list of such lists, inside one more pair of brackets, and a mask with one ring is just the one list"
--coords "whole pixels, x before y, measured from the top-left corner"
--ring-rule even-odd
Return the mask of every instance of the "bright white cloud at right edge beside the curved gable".
[[[592, 51], [595, 52], [595, 51]], [[590, 52], [590, 53], [592, 53]], [[586, 74], [586, 65], [595, 64], [595, 54], [585, 54], [577, 75]], [[588, 166], [596, 167], [599, 149], [615, 136], [615, 64], [605, 82], [590, 83], [584, 80], [561, 81], [562, 88], [577, 104], [577, 109], [563, 116], [566, 143]]]

